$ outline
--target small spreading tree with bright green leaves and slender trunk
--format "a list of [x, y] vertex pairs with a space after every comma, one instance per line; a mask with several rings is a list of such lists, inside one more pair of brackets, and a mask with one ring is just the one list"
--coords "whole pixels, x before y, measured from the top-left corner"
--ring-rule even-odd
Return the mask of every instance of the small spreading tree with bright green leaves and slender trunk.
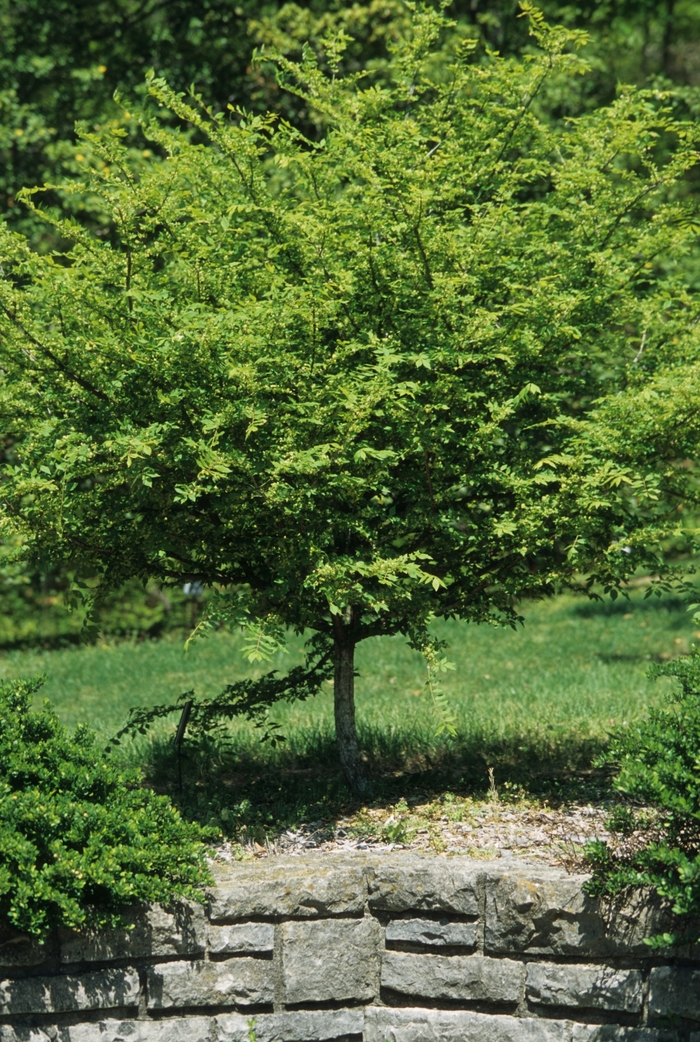
[[332, 672], [358, 793], [359, 641], [403, 634], [434, 665], [435, 617], [514, 623], [523, 597], [657, 568], [686, 474], [670, 421], [638, 472], [649, 446], [597, 403], [636, 415], [695, 351], [697, 130], [654, 92], [543, 122], [583, 38], [529, 17], [525, 64], [469, 42], [436, 63], [432, 11], [382, 83], [278, 58], [318, 143], [154, 79], [184, 124], [143, 115], [164, 162], [136, 176], [118, 135], [85, 134], [103, 239], [50, 215], [63, 253], [2, 239], [5, 524], [101, 589], [216, 587], [253, 655], [310, 630], [305, 667], [193, 719], [259, 718]]

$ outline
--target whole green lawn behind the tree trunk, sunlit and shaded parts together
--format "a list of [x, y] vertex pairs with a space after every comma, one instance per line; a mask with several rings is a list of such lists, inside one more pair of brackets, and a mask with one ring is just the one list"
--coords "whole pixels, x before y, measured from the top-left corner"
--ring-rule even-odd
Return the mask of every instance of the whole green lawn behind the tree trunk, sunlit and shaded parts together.
[[[590, 602], [571, 596], [529, 605], [514, 631], [444, 623], [454, 672], [445, 676], [457, 736], [438, 737], [425, 694], [425, 667], [399, 639], [360, 645], [357, 718], [362, 746], [386, 799], [417, 788], [478, 791], [493, 767], [503, 785], [591, 785], [591, 763], [606, 730], [631, 720], [662, 695], [645, 676], [649, 664], [688, 650], [691, 617], [677, 600]], [[88, 721], [108, 738], [132, 705], [174, 701], [183, 691], [213, 695], [252, 672], [238, 636], [216, 632], [185, 653], [182, 640], [107, 643], [51, 651], [7, 651], [0, 675], [46, 673], [44, 694], [70, 725]], [[300, 643], [273, 666], [299, 661]], [[183, 802], [205, 820], [297, 820], [311, 808], [347, 799], [335, 766], [332, 688], [275, 711], [286, 742], [261, 745], [248, 723], [185, 749]], [[148, 765], [157, 788], [174, 792], [176, 770], [164, 725], [128, 742], [121, 754]], [[573, 779], [573, 783], [572, 783]], [[588, 779], [588, 780], [586, 780]], [[600, 783], [596, 783], [600, 784]], [[564, 790], [562, 790], [564, 791]], [[319, 812], [320, 813], [320, 812]]]

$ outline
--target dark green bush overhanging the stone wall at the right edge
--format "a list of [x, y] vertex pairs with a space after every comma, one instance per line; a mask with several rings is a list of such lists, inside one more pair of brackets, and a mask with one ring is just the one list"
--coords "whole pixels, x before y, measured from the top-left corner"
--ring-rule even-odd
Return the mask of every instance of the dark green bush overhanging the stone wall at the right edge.
[[[589, 846], [593, 894], [649, 887], [678, 915], [700, 914], [700, 648], [654, 666], [680, 690], [640, 723], [618, 729], [599, 761], [615, 767], [615, 787], [630, 798], [607, 825], [610, 843]], [[686, 940], [665, 934], [656, 945]]]

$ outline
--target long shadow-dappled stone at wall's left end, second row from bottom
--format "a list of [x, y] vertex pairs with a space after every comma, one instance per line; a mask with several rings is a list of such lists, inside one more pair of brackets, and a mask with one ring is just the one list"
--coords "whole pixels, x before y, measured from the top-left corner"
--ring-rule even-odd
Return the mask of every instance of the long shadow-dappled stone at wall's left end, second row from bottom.
[[80, 976], [27, 977], [0, 982], [0, 1013], [68, 1013], [136, 1006], [134, 969], [97, 970]]

